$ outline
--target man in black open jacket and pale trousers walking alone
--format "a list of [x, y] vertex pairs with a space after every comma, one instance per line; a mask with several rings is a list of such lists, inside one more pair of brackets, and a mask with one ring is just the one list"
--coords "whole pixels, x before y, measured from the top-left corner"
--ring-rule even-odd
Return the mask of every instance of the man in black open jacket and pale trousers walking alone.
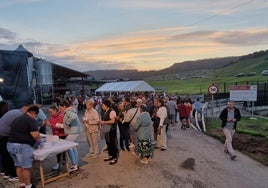
[[219, 116], [222, 121], [223, 133], [226, 137], [224, 144], [224, 151], [230, 155], [230, 158], [234, 160], [236, 155], [234, 154], [232, 140], [235, 133], [237, 121], [241, 119], [241, 114], [238, 108], [234, 107], [233, 101], [228, 101], [227, 107], [224, 108]]

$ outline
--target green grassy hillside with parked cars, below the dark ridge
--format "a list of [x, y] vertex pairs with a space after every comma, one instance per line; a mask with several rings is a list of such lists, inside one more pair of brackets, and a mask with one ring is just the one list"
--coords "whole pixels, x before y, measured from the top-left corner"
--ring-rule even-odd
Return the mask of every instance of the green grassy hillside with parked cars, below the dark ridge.
[[[268, 76], [261, 75], [262, 70], [268, 70], [268, 54], [247, 58], [217, 70], [195, 71], [195, 76], [189, 74], [191, 76], [176, 79], [177, 75], [169, 74], [158, 77], [156, 80], [150, 78], [146, 81], [153, 87], [166, 88], [168, 93], [199, 94], [207, 93], [207, 88], [212, 83], [216, 84], [220, 91], [223, 91], [224, 86], [228, 89], [229, 85], [235, 83], [256, 84], [257, 81], [265, 82], [268, 80]], [[235, 77], [238, 73], [246, 74], [249, 72], [256, 72], [257, 75]]]

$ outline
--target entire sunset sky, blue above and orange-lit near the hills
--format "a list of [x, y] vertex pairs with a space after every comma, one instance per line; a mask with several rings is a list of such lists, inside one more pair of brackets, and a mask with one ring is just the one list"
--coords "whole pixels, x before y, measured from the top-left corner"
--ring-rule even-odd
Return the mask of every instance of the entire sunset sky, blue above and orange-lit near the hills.
[[268, 49], [268, 0], [0, 0], [0, 49], [69, 68], [159, 70]]

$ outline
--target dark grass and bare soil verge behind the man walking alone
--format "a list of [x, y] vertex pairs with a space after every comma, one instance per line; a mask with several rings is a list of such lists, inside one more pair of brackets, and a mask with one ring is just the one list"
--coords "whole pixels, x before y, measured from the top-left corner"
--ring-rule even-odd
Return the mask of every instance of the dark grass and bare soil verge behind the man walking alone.
[[[209, 118], [206, 122], [206, 134], [225, 141], [225, 136], [221, 130], [221, 121], [217, 118]], [[252, 120], [242, 117], [237, 124], [236, 134], [233, 137], [233, 147], [249, 157], [268, 166], [268, 121], [265, 118]]]

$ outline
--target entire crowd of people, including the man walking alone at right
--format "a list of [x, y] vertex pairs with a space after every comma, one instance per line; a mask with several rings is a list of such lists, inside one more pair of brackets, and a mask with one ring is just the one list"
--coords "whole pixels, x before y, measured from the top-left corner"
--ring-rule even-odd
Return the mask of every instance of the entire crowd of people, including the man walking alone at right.
[[[48, 108], [48, 117], [38, 105], [25, 104], [21, 109], [9, 110], [7, 102], [0, 102], [0, 170], [5, 179], [19, 181], [20, 187], [34, 187], [29, 171], [33, 151], [41, 141], [40, 134], [46, 134], [47, 126], [53, 135], [73, 142], [84, 131], [89, 146], [86, 157], [100, 156], [99, 139], [103, 139], [108, 153], [103, 160], [109, 165], [116, 164], [123, 151], [137, 156], [142, 164], [148, 164], [154, 149], [163, 152], [168, 149], [167, 133], [175, 130], [177, 117], [180, 129], [185, 130], [190, 128], [191, 112], [201, 110], [199, 99], [192, 104], [189, 97], [181, 99], [173, 95], [102, 96], [77, 101], [74, 97], [55, 101]], [[83, 113], [82, 119], [78, 117], [79, 110]], [[234, 131], [230, 130], [235, 129], [241, 116], [237, 109], [230, 114], [229, 111], [224, 111], [220, 119], [227, 138], [226, 152], [234, 159], [230, 143]], [[79, 153], [75, 147], [68, 150], [68, 156], [70, 171], [79, 170]], [[52, 169], [58, 170], [59, 163], [66, 157], [58, 154]]]

